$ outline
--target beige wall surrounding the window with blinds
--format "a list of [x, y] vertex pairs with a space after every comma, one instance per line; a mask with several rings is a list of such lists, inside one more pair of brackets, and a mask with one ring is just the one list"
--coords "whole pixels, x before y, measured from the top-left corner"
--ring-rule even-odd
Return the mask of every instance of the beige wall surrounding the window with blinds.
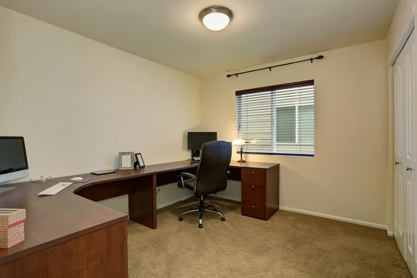
[[[321, 54], [325, 59], [313, 64], [279, 67], [272, 72], [244, 74], [238, 78], [227, 79], [224, 73], [204, 79], [203, 124], [218, 131], [219, 139], [233, 140], [236, 90], [315, 79], [316, 156], [245, 155], [244, 158], [281, 163], [281, 206], [384, 226], [388, 160], [387, 42], [381, 40]], [[259, 65], [263, 66], [266, 65]], [[234, 154], [234, 159], [237, 158]], [[234, 188], [229, 188], [227, 196], [239, 198], [238, 189]]]

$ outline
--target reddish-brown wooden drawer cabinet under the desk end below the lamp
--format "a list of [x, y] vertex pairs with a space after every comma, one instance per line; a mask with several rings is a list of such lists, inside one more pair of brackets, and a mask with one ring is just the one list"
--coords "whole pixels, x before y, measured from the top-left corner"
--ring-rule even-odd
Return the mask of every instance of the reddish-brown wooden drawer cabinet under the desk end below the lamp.
[[268, 220], [279, 209], [279, 165], [241, 172], [242, 215]]

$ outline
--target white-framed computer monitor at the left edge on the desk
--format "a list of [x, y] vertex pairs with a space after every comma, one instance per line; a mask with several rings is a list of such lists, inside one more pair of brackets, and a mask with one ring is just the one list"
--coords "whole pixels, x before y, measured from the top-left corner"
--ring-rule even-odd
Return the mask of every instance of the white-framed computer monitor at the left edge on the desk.
[[0, 183], [28, 175], [24, 138], [0, 136]]

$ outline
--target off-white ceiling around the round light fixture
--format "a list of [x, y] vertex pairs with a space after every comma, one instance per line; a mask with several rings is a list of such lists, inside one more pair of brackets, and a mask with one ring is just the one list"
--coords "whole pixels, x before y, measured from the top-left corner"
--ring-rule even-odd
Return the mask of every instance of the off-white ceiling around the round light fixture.
[[[398, 0], [0, 0], [117, 49], [208, 76], [386, 38]], [[218, 33], [200, 10], [234, 13]]]

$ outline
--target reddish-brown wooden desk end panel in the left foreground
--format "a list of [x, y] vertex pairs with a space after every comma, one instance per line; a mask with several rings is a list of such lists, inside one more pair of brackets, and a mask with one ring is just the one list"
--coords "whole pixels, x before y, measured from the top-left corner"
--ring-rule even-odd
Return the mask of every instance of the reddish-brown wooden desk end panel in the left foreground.
[[126, 221], [0, 265], [0, 278], [125, 277]]

